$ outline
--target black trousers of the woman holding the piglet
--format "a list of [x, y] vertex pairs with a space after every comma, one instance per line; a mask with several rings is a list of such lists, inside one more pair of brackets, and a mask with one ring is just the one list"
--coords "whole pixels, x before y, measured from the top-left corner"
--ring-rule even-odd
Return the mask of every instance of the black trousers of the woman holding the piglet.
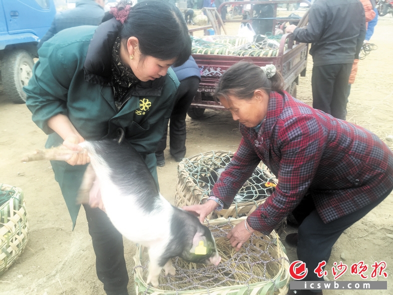
[[107, 295], [128, 295], [123, 237], [105, 212], [83, 205], [95, 253], [95, 268]]

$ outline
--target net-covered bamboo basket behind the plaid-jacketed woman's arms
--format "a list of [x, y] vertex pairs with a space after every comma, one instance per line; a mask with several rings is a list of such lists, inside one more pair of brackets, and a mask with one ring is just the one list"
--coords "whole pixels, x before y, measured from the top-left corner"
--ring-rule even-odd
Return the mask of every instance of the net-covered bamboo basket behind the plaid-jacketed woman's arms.
[[[177, 167], [177, 183], [174, 204], [176, 207], [202, 204], [209, 197], [212, 185], [217, 180], [214, 174], [217, 168], [223, 169], [232, 159], [233, 153], [227, 151], [211, 151], [198, 154], [183, 159]], [[204, 169], [204, 167], [208, 167]], [[215, 169], [215, 170], [214, 170]], [[213, 171], [214, 170], [214, 171]], [[196, 172], [195, 172], [196, 171]], [[278, 183], [266, 167], [258, 166], [252, 176], [246, 181], [239, 190], [240, 193], [253, 191], [254, 197], [247, 200], [236, 202], [236, 198], [231, 206], [227, 209], [214, 211], [207, 216], [207, 219], [219, 217], [238, 218], [249, 216], [260, 204], [272, 193], [273, 188], [263, 188], [263, 183], [270, 182], [274, 185]], [[263, 194], [262, 196], [259, 193]], [[286, 219], [283, 219], [275, 230], [280, 234], [286, 225]]]

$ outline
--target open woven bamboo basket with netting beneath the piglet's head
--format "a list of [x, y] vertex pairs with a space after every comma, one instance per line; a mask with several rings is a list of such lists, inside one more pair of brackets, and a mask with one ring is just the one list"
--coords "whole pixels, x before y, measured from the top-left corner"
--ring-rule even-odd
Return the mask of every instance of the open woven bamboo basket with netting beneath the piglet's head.
[[225, 238], [227, 232], [246, 217], [206, 220], [214, 236], [221, 262], [205, 265], [172, 258], [174, 276], [158, 277], [157, 288], [146, 284], [147, 249], [136, 248], [134, 282], [137, 295], [285, 295], [289, 283], [289, 262], [275, 231], [269, 236], [254, 232], [239, 252]]

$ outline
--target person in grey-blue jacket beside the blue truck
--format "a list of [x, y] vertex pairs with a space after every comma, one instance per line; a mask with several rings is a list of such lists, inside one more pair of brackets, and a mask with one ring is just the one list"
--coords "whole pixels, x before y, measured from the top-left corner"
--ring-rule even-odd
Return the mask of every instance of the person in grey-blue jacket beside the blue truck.
[[78, 26], [98, 26], [104, 15], [104, 0], [79, 0], [75, 8], [58, 12], [46, 34], [38, 43], [38, 48], [54, 34]]

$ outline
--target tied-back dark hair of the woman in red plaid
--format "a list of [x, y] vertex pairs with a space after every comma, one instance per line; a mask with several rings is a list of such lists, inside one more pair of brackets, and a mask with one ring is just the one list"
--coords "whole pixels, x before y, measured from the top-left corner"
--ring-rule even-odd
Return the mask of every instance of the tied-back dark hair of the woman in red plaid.
[[228, 95], [232, 95], [239, 99], [250, 99], [256, 89], [262, 89], [269, 94], [271, 91], [281, 92], [283, 86], [284, 81], [278, 71], [271, 78], [267, 78], [260, 67], [248, 61], [241, 61], [222, 74], [215, 87], [214, 97], [227, 98]]

